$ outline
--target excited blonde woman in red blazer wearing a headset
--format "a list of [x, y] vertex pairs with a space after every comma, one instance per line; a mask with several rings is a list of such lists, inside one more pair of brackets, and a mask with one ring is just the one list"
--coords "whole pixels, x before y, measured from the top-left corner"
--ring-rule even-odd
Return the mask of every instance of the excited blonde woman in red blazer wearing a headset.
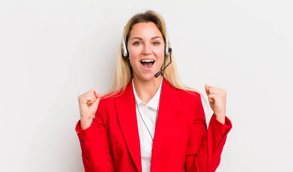
[[201, 95], [179, 82], [164, 19], [137, 14], [123, 33], [112, 89], [78, 96], [85, 172], [215, 172], [231, 129], [226, 91], [205, 85], [208, 129]]

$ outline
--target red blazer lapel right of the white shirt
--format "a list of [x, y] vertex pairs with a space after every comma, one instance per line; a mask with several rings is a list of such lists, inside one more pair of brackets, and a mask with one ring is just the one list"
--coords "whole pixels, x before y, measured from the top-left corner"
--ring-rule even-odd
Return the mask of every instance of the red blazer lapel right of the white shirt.
[[163, 88], [153, 141], [152, 162], [156, 160], [165, 143], [169, 128], [173, 125], [174, 116], [176, 115], [178, 105], [177, 90], [172, 88], [167, 83], [165, 78], [163, 80], [162, 87]]

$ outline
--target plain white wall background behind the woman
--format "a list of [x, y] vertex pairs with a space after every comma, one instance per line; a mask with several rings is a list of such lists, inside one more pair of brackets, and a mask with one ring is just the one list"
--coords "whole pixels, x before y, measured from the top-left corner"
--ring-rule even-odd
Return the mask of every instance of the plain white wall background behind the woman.
[[77, 96], [110, 87], [123, 28], [147, 9], [166, 19], [182, 81], [228, 91], [217, 172], [293, 172], [290, 0], [1, 1], [0, 172], [84, 171]]

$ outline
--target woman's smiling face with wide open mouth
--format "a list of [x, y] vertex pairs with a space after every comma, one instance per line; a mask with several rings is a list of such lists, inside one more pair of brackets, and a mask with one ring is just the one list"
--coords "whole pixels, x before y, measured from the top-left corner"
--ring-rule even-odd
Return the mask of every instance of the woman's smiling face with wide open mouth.
[[133, 25], [127, 49], [133, 76], [144, 80], [154, 78], [164, 62], [164, 38], [153, 22]]

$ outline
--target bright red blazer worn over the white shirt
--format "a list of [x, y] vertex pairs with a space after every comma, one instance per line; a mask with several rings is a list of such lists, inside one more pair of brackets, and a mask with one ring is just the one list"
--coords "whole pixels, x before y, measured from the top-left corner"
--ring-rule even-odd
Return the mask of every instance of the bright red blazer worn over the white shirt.
[[[117, 97], [101, 99], [92, 125], [76, 132], [85, 172], [142, 172], [131, 82]], [[163, 80], [150, 172], [215, 172], [231, 122], [211, 116], [209, 129], [198, 93]]]

